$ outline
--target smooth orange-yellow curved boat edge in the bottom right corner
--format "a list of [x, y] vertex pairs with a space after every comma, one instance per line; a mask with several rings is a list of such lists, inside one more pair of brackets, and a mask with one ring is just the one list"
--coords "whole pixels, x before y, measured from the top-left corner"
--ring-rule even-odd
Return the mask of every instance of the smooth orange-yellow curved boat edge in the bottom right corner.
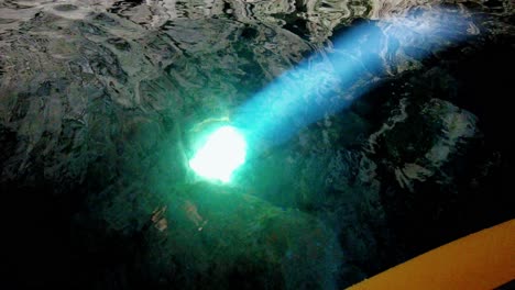
[[387, 269], [349, 289], [495, 289], [515, 279], [515, 220]]

